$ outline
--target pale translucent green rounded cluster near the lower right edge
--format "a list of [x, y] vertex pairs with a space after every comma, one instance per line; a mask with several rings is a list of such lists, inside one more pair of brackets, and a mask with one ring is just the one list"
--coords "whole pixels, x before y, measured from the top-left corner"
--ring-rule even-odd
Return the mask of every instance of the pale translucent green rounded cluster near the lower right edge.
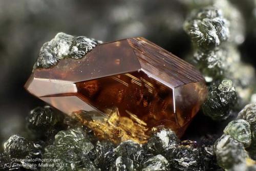
[[233, 120], [225, 127], [224, 133], [248, 147], [251, 144], [250, 124], [243, 119]]

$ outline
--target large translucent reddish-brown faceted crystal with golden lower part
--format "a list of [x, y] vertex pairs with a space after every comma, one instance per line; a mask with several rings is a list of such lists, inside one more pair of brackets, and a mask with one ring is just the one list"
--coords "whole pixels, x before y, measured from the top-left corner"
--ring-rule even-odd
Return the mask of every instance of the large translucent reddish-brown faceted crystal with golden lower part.
[[25, 88], [116, 142], [144, 143], [159, 127], [181, 137], [207, 96], [199, 71], [141, 37], [106, 42], [80, 59], [37, 68]]

